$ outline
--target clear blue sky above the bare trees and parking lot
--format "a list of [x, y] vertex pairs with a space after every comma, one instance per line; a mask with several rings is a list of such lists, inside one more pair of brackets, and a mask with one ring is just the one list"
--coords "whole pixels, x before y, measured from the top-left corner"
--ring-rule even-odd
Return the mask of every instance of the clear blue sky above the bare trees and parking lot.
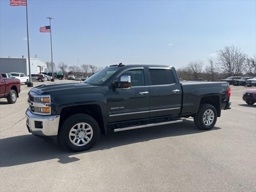
[[[37, 4], [40, 8], [38, 8]], [[42, 13], [42, 11], [44, 13]], [[68, 65], [176, 68], [235, 45], [256, 54], [256, 1], [28, 0], [30, 56]], [[0, 0], [0, 56], [27, 57], [26, 7]]]

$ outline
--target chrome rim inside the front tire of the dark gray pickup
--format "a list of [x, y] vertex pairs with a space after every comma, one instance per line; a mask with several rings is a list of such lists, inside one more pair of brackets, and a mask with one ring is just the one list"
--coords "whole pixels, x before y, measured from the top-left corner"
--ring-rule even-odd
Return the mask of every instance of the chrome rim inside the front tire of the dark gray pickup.
[[92, 139], [92, 127], [88, 123], [77, 123], [69, 132], [69, 140], [75, 146], [84, 146]]

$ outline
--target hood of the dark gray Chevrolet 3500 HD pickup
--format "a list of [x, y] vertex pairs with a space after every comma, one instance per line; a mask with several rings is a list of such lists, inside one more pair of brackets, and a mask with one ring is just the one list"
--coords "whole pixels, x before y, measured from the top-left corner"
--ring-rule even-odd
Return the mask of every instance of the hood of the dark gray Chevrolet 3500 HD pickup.
[[37, 95], [41, 95], [44, 92], [51, 92], [63, 89], [79, 89], [84, 87], [92, 87], [92, 85], [87, 83], [51, 83], [36, 86], [35, 88], [32, 88], [30, 91], [35, 92]]

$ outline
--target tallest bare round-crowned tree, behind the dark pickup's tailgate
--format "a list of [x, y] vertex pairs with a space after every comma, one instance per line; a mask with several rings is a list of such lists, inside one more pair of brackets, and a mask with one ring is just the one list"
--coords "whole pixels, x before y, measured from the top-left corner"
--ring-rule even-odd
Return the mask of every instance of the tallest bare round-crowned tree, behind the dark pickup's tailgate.
[[232, 46], [226, 46], [217, 51], [217, 64], [228, 76], [238, 76], [244, 70], [246, 54], [240, 49]]

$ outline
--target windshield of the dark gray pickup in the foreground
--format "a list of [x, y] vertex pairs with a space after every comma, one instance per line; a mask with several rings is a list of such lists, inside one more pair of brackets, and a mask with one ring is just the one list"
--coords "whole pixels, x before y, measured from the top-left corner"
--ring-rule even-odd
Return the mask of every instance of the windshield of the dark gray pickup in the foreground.
[[104, 83], [106, 80], [108, 80], [108, 78], [112, 74], [114, 74], [117, 70], [118, 70], [118, 68], [113, 68], [113, 67], [104, 68], [104, 69], [96, 72], [92, 76], [90, 76], [88, 79], [86, 79], [84, 81], [84, 83], [89, 83], [92, 85], [100, 85], [100, 84]]

